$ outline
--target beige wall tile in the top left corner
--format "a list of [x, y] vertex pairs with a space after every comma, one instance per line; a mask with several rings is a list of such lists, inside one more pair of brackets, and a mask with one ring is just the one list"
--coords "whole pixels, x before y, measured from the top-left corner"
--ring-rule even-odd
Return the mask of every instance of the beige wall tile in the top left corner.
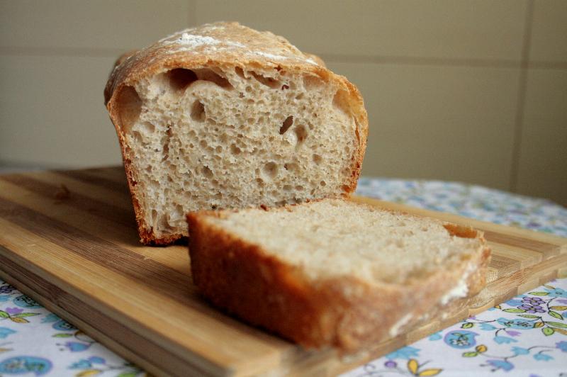
[[189, 1], [2, 1], [0, 46], [130, 50], [188, 26]]

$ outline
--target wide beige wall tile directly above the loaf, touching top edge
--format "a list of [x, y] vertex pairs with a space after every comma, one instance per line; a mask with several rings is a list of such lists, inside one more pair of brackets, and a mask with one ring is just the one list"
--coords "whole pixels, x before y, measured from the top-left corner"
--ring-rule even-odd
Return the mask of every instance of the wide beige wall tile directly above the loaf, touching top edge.
[[318, 54], [520, 60], [526, 1], [196, 0], [196, 22], [240, 21]]

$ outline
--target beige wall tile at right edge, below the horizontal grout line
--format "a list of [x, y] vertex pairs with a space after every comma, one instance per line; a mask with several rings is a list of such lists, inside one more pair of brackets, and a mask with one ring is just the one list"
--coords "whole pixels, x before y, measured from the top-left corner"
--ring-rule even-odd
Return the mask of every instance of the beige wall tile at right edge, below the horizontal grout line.
[[529, 69], [517, 191], [567, 206], [567, 70]]

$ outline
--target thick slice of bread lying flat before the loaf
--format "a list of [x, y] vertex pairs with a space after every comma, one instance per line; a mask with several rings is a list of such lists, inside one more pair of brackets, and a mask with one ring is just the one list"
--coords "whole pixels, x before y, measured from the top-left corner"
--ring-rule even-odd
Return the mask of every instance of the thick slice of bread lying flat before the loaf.
[[481, 232], [340, 199], [187, 220], [193, 281], [213, 304], [344, 353], [478, 293], [490, 259]]

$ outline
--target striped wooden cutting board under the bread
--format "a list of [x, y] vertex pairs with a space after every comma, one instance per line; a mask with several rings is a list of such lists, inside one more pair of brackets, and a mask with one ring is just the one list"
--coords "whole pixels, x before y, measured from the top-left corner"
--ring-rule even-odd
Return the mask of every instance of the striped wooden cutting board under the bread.
[[147, 371], [334, 375], [567, 271], [567, 239], [354, 198], [477, 227], [493, 249], [488, 286], [358, 357], [305, 351], [211, 308], [184, 246], [143, 247], [122, 168], [0, 176], [0, 277]]

